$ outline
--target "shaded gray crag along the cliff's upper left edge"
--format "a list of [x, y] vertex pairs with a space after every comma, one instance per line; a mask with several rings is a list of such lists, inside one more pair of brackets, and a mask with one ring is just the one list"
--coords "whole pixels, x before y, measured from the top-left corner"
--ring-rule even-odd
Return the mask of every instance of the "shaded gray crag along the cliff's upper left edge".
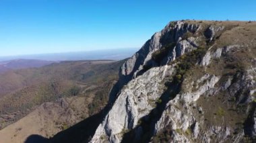
[[[121, 74], [127, 76], [138, 73], [139, 70], [143, 69], [143, 65], [147, 64], [147, 62], [152, 59], [152, 53], [168, 43], [179, 42], [179, 44], [177, 44], [177, 56], [181, 56], [181, 54], [185, 52], [185, 48], [191, 47], [191, 45], [196, 45], [194, 38], [181, 41], [181, 37], [186, 32], [195, 33], [199, 28], [200, 26], [198, 24], [188, 24], [183, 21], [168, 23], [161, 32], [154, 34], [154, 36], [152, 36], [152, 38], [148, 40], [148, 42], [146, 42], [138, 52], [123, 64], [121, 67]], [[172, 52], [175, 51], [170, 51], [170, 53]], [[169, 56], [171, 55], [172, 54]], [[173, 59], [175, 59], [174, 56], [172, 56], [172, 60]], [[153, 64], [152, 66], [156, 65]]]

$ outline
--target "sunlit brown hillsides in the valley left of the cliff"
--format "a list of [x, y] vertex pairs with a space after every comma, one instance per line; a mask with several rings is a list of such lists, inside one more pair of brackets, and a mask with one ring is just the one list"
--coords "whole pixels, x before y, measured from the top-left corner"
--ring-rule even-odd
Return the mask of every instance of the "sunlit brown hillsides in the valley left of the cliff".
[[121, 64], [123, 61], [65, 61], [0, 75], [9, 85], [26, 83], [0, 97], [0, 142], [25, 141], [31, 134], [49, 138], [98, 113], [108, 101]]

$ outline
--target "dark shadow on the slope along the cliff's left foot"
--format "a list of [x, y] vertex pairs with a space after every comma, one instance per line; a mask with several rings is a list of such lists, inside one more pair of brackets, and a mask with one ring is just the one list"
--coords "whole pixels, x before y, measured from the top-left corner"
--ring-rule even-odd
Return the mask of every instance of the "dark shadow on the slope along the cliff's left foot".
[[[125, 60], [127, 60], [127, 59], [125, 59]], [[123, 62], [125, 60], [121, 60], [118, 63], [123, 64]], [[113, 103], [115, 103], [115, 100], [118, 97], [119, 91], [130, 80], [131, 80], [131, 77], [120, 76], [119, 81], [117, 83], [115, 83], [113, 88], [110, 90], [110, 93], [108, 94], [109, 95], [108, 104], [104, 107], [104, 109], [102, 109], [100, 112], [86, 118], [82, 122], [79, 122], [79, 123], [75, 124], [74, 126], [67, 128], [67, 130], [63, 130], [63, 131], [55, 134], [55, 136], [53, 136], [53, 138], [50, 138], [48, 140], [43, 140], [44, 142], [42, 142], [42, 143], [89, 142], [91, 140], [91, 138], [94, 136], [96, 129], [102, 123], [102, 121], [104, 120], [104, 117], [106, 116], [108, 111], [111, 109]], [[35, 142], [36, 142], [36, 140], [35, 140]], [[30, 142], [25, 142], [25, 143], [30, 143]]]

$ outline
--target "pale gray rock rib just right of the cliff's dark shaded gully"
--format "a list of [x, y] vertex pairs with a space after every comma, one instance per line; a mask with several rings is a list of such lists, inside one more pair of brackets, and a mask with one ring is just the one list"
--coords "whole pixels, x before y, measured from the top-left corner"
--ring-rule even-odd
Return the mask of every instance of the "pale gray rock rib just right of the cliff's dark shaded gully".
[[[174, 132], [177, 132], [177, 130], [186, 132], [187, 130], [191, 130], [191, 126], [194, 126], [193, 138], [197, 138], [199, 134], [198, 122], [200, 121], [195, 120], [195, 117], [193, 117], [194, 113], [190, 112], [193, 107], [189, 107], [189, 105], [192, 102], [197, 101], [201, 95], [212, 92], [214, 90], [214, 85], [216, 85], [219, 79], [220, 78], [214, 75], [204, 75], [197, 81], [197, 85], [201, 84], [205, 80], [206, 81], [196, 91], [193, 93], [179, 94], [177, 97], [170, 100], [166, 105], [166, 109], [164, 110], [162, 117], [155, 126], [155, 134], [163, 130], [167, 125], [174, 130]], [[183, 103], [182, 106], [181, 103]], [[181, 133], [177, 132], [177, 134], [172, 135], [172, 138], [179, 138], [179, 140], [177, 140], [179, 142], [187, 142], [188, 139], [179, 137], [181, 136], [180, 134]]]

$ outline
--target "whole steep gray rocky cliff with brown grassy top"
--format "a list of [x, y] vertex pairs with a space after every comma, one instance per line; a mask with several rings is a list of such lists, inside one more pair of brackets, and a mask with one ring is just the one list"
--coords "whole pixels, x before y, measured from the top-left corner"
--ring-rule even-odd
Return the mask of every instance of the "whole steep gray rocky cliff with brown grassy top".
[[173, 21], [121, 67], [90, 142], [241, 142], [256, 134], [256, 23]]

